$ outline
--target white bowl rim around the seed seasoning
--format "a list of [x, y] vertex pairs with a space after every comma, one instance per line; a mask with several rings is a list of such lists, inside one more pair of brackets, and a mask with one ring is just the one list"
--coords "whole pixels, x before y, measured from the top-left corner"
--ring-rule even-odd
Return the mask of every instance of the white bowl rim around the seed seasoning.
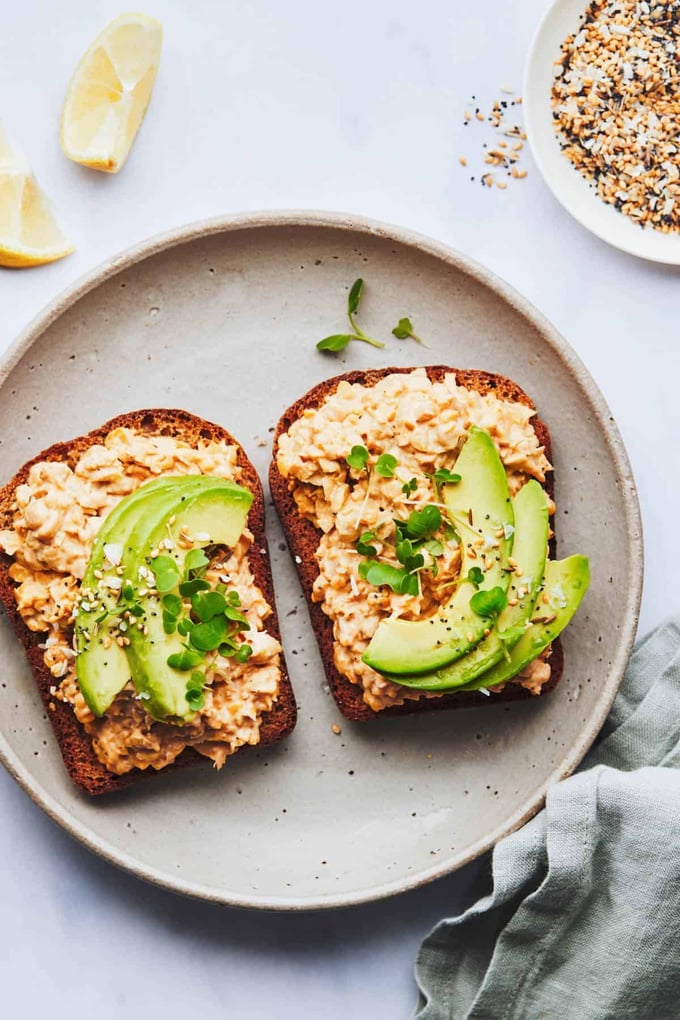
[[553, 128], [555, 61], [564, 40], [578, 32], [587, 0], [556, 0], [540, 22], [527, 58], [524, 124], [536, 165], [557, 200], [578, 222], [608, 244], [639, 258], [680, 265], [680, 233], [641, 227], [608, 205], [563, 155]]

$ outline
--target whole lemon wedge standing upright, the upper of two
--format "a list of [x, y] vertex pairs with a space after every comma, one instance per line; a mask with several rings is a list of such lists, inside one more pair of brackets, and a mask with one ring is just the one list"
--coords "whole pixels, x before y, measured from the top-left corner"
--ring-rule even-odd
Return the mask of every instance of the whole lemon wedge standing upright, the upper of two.
[[144, 119], [160, 61], [163, 30], [146, 14], [121, 14], [75, 68], [61, 114], [64, 155], [117, 173]]

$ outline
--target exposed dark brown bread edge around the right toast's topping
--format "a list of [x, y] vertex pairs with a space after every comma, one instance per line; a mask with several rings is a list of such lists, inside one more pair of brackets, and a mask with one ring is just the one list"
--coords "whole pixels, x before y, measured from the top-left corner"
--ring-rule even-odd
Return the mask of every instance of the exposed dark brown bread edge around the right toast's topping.
[[[413, 371], [413, 369], [378, 368], [368, 371], [346, 372], [344, 375], [335, 375], [332, 378], [326, 379], [306, 393], [283, 413], [274, 432], [273, 459], [269, 468], [271, 495], [281, 519], [289, 547], [295, 557], [298, 573], [309, 607], [312, 628], [319, 646], [321, 659], [323, 660], [328, 685], [343, 715], [355, 721], [377, 718], [378, 716], [411, 715], [414, 712], [440, 711], [447, 708], [461, 708], [466, 705], [479, 707], [480, 704], [486, 705], [491, 702], [509, 702], [534, 697], [519, 684], [509, 683], [506, 684], [500, 694], [491, 695], [488, 698], [480, 698], [477, 692], [459, 692], [442, 695], [440, 698], [421, 698], [418, 701], [407, 701], [404, 705], [397, 705], [391, 708], [382, 709], [380, 712], [374, 712], [363, 700], [362, 688], [355, 683], [351, 683], [350, 680], [335, 669], [333, 664], [332, 621], [323, 612], [320, 603], [312, 602], [312, 586], [319, 574], [314, 554], [322, 532], [314, 527], [311, 521], [301, 516], [293, 494], [289, 490], [287, 480], [278, 472], [276, 467], [278, 439], [281, 434], [287, 431], [293, 422], [301, 417], [308, 408], [319, 407], [327, 397], [335, 392], [342, 381], [375, 386], [379, 379], [393, 372], [410, 371]], [[501, 400], [525, 404], [532, 409], [534, 407], [532, 401], [524, 391], [516, 382], [513, 382], [512, 379], [506, 378], [503, 375], [494, 375], [490, 372], [475, 369], [462, 370], [450, 368], [447, 365], [429, 365], [425, 368], [425, 371], [429, 379], [433, 382], [441, 380], [447, 373], [454, 372], [459, 386], [463, 386], [468, 390], [476, 390], [481, 394], [492, 393]], [[548, 460], [552, 460], [551, 436], [547, 426], [536, 417], [532, 419], [531, 424], [539, 445], [545, 450], [545, 456]], [[548, 474], [543, 488], [551, 499], [554, 499], [555, 481], [552, 472]], [[551, 553], [555, 556], [555, 538], [551, 540]], [[562, 676], [563, 666], [562, 648], [560, 642], [557, 641], [553, 644], [553, 654], [551, 656], [551, 679], [543, 685], [541, 694], [556, 686]]]

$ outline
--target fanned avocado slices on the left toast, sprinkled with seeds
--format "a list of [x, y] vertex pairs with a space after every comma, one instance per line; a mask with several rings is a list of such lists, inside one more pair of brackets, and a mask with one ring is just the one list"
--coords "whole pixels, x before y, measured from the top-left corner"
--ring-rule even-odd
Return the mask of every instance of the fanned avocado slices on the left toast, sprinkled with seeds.
[[[75, 673], [95, 715], [106, 711], [132, 677], [150, 714], [192, 716], [187, 678], [167, 665], [174, 649], [163, 632], [159, 597], [151, 594], [152, 552], [168, 545], [163, 551], [180, 573], [190, 549], [236, 545], [252, 501], [247, 489], [223, 478], [165, 476], [122, 499], [105, 518], [74, 622]], [[177, 541], [182, 528], [191, 533], [191, 544]], [[127, 620], [121, 615], [126, 607], [132, 610]]]

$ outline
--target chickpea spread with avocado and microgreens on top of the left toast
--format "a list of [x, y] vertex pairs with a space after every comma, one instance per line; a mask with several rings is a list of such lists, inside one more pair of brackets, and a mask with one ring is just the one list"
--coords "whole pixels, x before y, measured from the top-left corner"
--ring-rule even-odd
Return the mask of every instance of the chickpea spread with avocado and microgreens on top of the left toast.
[[[13, 490], [0, 552], [53, 678], [49, 708], [68, 706], [116, 776], [189, 748], [220, 768], [259, 743], [279, 696], [244, 457], [224, 439], [118, 426], [70, 460], [34, 462]], [[213, 528], [218, 504], [228, 533]]]

